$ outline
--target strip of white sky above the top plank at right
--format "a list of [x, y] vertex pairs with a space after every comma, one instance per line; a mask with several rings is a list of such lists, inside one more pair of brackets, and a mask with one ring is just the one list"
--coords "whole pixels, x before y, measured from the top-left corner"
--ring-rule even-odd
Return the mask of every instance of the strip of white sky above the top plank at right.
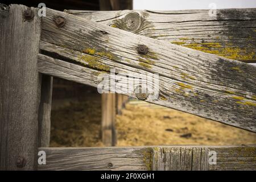
[[256, 0], [133, 0], [134, 10], [193, 10], [210, 9], [215, 3], [217, 9], [256, 7]]

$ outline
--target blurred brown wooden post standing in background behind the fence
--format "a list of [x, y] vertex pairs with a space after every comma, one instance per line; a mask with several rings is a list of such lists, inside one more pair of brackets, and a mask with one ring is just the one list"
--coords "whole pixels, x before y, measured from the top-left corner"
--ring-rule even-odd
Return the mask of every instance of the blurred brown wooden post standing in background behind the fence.
[[117, 142], [115, 134], [115, 94], [102, 94], [102, 118], [101, 118], [101, 136], [105, 146], [115, 146]]

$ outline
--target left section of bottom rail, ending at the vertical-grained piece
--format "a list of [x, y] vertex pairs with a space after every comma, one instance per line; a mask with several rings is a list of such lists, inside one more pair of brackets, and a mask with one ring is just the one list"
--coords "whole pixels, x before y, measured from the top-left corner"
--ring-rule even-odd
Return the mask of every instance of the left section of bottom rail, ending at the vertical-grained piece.
[[144, 147], [39, 150], [46, 151], [46, 165], [39, 165], [39, 170], [146, 170], [145, 162], [149, 163], [150, 160], [145, 158], [150, 156], [150, 150], [145, 150]]

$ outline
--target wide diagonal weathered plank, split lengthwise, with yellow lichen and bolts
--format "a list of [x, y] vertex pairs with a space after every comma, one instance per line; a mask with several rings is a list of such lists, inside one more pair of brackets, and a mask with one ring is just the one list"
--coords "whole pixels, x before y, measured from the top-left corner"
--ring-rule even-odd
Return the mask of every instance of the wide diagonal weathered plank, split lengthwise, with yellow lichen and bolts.
[[[256, 67], [253, 65], [135, 35], [60, 11], [47, 9], [47, 14], [42, 19], [40, 49], [48, 56], [39, 56], [39, 72], [97, 86], [100, 83], [97, 76], [104, 73], [110, 79], [110, 69], [114, 68], [123, 79], [129, 74], [141, 79], [149, 90], [154, 90], [156, 84], [148, 78], [159, 73], [159, 96], [156, 100], [148, 97], [147, 102], [256, 131]], [[56, 16], [65, 18], [63, 28], [56, 27], [53, 21]], [[139, 44], [148, 47], [147, 55], [138, 54]], [[125, 83], [122, 86], [127, 88]], [[127, 88], [129, 92], [125, 94], [136, 98], [135, 86], [138, 85]], [[115, 89], [121, 93], [119, 88]]]

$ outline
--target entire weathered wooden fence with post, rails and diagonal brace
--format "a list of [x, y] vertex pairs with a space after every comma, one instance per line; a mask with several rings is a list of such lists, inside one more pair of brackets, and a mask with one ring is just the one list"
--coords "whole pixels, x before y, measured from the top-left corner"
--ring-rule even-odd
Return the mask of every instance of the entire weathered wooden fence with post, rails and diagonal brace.
[[[47, 9], [39, 18], [37, 11], [0, 10], [1, 169], [255, 170], [255, 146], [48, 147], [51, 76], [97, 87], [111, 68], [123, 77], [159, 73], [159, 97], [147, 102], [255, 133], [256, 67], [242, 62], [255, 61], [255, 9], [214, 17], [208, 10]], [[46, 165], [38, 165], [38, 150], [46, 151]], [[210, 151], [217, 164], [208, 163]]]

